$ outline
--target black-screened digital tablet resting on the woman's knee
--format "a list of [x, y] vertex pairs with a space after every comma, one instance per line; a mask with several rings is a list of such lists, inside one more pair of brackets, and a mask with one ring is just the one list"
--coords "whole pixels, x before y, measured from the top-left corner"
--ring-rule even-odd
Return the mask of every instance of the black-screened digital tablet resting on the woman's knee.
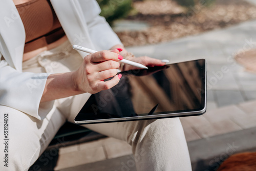
[[121, 74], [115, 87], [91, 95], [75, 123], [160, 119], [206, 112], [205, 59]]

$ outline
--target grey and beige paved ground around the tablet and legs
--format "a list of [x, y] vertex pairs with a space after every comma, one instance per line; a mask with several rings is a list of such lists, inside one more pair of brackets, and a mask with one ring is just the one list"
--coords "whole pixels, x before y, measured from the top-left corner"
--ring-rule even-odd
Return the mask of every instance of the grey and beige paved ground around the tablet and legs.
[[[148, 55], [172, 62], [207, 60], [207, 113], [181, 118], [194, 170], [214, 169], [209, 164], [212, 158], [222, 153], [230, 155], [225, 151], [230, 145], [236, 147], [234, 143], [239, 142], [240, 149], [233, 153], [254, 147], [250, 140], [255, 142], [251, 135], [256, 127], [256, 74], [237, 65], [233, 56], [256, 48], [255, 33], [256, 20], [253, 20], [165, 44], [128, 48], [137, 56]], [[129, 145], [105, 138], [60, 148], [55, 170], [121, 170], [131, 159]], [[216, 160], [223, 161], [223, 158]], [[136, 170], [135, 167], [129, 169]]]

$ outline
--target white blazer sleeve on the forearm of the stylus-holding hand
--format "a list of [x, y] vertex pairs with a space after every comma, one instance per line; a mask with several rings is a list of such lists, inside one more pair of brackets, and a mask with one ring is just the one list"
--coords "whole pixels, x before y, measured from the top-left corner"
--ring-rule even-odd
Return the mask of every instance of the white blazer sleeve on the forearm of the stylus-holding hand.
[[0, 53], [0, 105], [22, 111], [39, 120], [50, 112], [54, 101], [40, 103], [47, 73], [19, 72]]

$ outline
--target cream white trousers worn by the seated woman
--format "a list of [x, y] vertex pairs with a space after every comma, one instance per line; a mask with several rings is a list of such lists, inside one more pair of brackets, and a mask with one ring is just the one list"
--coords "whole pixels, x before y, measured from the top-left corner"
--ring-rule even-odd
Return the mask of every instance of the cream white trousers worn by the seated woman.
[[[24, 72], [60, 73], [76, 70], [82, 58], [69, 42], [23, 63]], [[22, 90], [20, 90], [22, 91]], [[39, 121], [23, 112], [0, 105], [0, 170], [28, 170], [45, 151], [66, 120], [73, 122], [90, 97], [85, 93], [55, 100], [47, 117]], [[8, 116], [7, 116], [8, 115]], [[4, 140], [8, 119], [8, 143]], [[179, 118], [84, 125], [132, 145], [137, 170], [191, 170], [188, 148]], [[7, 146], [6, 146], [7, 145]], [[8, 151], [7, 154], [4, 149]], [[6, 162], [7, 161], [7, 162]], [[5, 164], [8, 163], [8, 167]]]

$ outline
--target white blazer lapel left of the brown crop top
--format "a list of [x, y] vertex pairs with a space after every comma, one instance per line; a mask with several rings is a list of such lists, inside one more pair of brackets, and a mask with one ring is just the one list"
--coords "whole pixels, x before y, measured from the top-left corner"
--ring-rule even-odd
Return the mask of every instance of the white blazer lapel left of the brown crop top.
[[13, 1], [0, 2], [0, 52], [8, 64], [22, 71], [25, 29]]

